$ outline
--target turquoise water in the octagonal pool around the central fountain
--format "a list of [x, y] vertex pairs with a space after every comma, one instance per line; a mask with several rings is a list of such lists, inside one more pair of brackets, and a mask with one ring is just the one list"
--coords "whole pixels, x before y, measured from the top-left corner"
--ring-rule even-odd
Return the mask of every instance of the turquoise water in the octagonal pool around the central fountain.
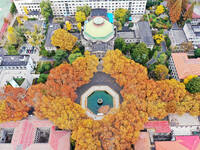
[[[97, 100], [98, 99], [103, 99], [103, 104], [98, 105]], [[101, 106], [109, 105], [110, 108], [113, 107], [113, 98], [110, 94], [108, 94], [105, 91], [95, 91], [93, 92], [90, 96], [87, 98], [87, 107], [94, 113], [98, 113], [98, 109]]]

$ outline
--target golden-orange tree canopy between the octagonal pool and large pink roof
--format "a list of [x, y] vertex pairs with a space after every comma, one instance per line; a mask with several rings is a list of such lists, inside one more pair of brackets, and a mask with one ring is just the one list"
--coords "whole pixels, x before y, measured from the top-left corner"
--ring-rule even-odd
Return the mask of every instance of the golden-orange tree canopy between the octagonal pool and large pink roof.
[[35, 115], [51, 120], [60, 129], [73, 130], [86, 119], [85, 110], [69, 98], [44, 96], [35, 104]]

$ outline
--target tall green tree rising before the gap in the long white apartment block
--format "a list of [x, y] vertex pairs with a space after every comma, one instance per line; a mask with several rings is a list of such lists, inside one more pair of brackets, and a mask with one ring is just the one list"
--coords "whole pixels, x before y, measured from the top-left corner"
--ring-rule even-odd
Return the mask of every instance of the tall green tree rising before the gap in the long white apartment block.
[[40, 3], [40, 8], [41, 8], [41, 14], [45, 18], [46, 22], [49, 21], [49, 17], [53, 16], [53, 11], [51, 9], [51, 3], [50, 1], [42, 1]]

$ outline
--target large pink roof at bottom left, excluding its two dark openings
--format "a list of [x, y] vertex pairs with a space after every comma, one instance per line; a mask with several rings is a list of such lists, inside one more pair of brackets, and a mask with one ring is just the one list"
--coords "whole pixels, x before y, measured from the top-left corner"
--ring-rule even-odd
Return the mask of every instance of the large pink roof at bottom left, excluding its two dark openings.
[[[70, 132], [56, 131], [55, 126], [48, 120], [38, 120], [32, 117], [22, 121], [2, 123], [0, 124], [0, 128], [14, 128], [11, 143], [0, 144], [1, 150], [16, 150], [16, 148], [21, 148], [21, 150], [70, 149]], [[37, 128], [50, 129], [48, 143], [34, 143]]]

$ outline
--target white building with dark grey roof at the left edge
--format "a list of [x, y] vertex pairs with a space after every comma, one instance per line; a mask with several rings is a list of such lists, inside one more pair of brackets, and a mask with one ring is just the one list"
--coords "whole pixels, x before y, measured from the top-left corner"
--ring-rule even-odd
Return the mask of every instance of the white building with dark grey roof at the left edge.
[[25, 78], [20, 87], [27, 89], [32, 85], [35, 64], [28, 55], [1, 55], [0, 56], [0, 87], [14, 78]]

